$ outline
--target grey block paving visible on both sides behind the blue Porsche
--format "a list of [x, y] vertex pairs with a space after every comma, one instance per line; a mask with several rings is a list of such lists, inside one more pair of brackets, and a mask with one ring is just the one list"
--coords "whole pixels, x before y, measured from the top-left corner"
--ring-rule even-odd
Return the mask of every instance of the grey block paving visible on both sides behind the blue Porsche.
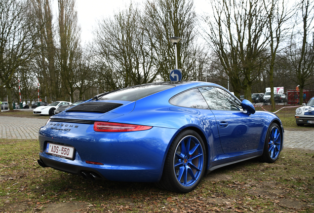
[[[47, 119], [0, 116], [0, 138], [38, 139]], [[314, 131], [285, 131], [284, 147], [314, 150]]]

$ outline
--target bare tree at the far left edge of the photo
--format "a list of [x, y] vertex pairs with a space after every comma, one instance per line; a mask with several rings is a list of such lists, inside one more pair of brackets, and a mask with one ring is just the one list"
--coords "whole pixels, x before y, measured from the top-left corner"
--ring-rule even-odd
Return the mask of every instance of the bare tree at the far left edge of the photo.
[[28, 2], [0, 0], [0, 80], [5, 85], [9, 108], [12, 106], [12, 77], [30, 60], [37, 31], [27, 15]]

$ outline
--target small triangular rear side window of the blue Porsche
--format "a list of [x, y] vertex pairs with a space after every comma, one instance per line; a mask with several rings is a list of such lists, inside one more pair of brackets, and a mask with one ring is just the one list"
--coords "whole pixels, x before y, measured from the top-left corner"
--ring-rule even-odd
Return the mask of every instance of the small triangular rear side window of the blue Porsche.
[[188, 90], [170, 100], [170, 104], [189, 108], [209, 109], [198, 89]]

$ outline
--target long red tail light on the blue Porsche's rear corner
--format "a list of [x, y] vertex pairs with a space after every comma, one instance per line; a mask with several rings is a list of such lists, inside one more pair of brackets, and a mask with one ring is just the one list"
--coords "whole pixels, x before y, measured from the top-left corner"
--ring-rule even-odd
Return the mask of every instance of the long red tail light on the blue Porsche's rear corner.
[[152, 129], [151, 126], [141, 126], [134, 124], [122, 124], [112, 122], [96, 121], [94, 123], [95, 132], [134, 132]]

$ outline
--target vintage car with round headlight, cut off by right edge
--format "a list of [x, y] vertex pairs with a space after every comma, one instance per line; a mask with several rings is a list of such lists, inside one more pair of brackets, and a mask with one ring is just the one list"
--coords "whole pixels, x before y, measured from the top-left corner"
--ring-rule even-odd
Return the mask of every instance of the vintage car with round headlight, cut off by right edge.
[[310, 99], [308, 104], [303, 104], [297, 108], [294, 117], [298, 126], [314, 124], [314, 97]]

